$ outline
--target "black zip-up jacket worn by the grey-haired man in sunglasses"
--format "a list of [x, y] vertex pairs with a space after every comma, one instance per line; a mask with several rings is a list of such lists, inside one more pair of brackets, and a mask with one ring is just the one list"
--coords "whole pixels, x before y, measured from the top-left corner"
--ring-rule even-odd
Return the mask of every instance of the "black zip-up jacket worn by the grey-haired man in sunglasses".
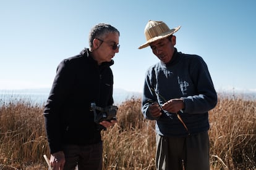
[[113, 104], [111, 62], [100, 66], [88, 49], [62, 60], [45, 105], [45, 127], [51, 153], [63, 144], [87, 145], [101, 141], [90, 104]]

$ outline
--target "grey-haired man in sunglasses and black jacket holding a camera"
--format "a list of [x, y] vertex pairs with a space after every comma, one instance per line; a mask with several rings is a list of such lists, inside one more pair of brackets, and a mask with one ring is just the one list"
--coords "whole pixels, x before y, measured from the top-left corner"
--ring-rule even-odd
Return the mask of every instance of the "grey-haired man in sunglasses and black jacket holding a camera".
[[101, 169], [101, 130], [116, 119], [95, 123], [91, 104], [113, 105], [113, 57], [119, 52], [119, 31], [105, 23], [89, 34], [89, 47], [62, 60], [45, 105], [45, 127], [55, 169]]

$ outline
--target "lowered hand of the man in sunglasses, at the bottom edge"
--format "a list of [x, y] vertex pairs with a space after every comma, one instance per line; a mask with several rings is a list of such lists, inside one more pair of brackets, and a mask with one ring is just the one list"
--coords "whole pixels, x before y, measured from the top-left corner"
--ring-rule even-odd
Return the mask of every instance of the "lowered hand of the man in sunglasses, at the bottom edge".
[[64, 163], [65, 163], [64, 152], [60, 151], [60, 152], [51, 154], [49, 163], [53, 170], [62, 170], [64, 168]]

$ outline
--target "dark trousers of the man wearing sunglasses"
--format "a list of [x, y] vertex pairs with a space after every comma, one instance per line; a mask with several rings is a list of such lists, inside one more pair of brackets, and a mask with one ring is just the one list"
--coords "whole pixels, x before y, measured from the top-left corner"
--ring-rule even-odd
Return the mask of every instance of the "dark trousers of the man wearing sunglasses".
[[102, 169], [102, 142], [92, 145], [65, 145], [64, 170], [74, 170], [78, 165], [79, 170]]

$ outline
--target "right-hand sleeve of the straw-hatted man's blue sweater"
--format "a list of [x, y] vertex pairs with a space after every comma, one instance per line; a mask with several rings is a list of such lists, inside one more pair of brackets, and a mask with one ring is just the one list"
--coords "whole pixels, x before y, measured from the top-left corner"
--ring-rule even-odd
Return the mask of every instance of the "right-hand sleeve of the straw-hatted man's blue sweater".
[[184, 112], [190, 114], [206, 113], [216, 106], [218, 100], [207, 64], [201, 57], [198, 59], [198, 63], [194, 63], [192, 70], [190, 70], [197, 94], [182, 97], [185, 102]]

